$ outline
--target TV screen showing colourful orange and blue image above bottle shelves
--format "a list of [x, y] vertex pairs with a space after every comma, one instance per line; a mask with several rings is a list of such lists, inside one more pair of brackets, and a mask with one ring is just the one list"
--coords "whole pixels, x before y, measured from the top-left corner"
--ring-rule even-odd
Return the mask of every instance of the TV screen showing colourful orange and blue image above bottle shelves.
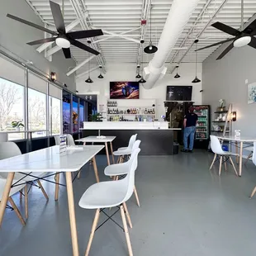
[[139, 97], [138, 82], [110, 82], [111, 99], [139, 99]]

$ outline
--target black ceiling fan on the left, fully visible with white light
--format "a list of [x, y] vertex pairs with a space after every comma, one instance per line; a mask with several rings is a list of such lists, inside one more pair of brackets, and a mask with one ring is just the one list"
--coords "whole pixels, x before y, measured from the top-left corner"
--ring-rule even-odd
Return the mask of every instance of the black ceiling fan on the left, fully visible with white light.
[[57, 4], [56, 2], [50, 1], [50, 9], [55, 20], [55, 26], [56, 26], [57, 32], [50, 31], [49, 29], [43, 26], [38, 26], [35, 23], [23, 20], [20, 17], [13, 16], [12, 14], [7, 14], [7, 17], [16, 21], [20, 21], [21, 23], [24, 23], [28, 26], [33, 26], [36, 29], [39, 29], [40, 31], [45, 31], [53, 35], [53, 37], [50, 37], [50, 38], [44, 38], [44, 39], [29, 42], [27, 43], [27, 45], [39, 45], [39, 44], [55, 41], [56, 45], [62, 48], [66, 59], [71, 58], [71, 53], [69, 48], [70, 45], [74, 45], [82, 50], [86, 50], [92, 55], [100, 54], [97, 50], [92, 49], [88, 45], [82, 44], [76, 39], [88, 38], [93, 36], [102, 36], [103, 35], [102, 30], [73, 31], [73, 32], [66, 33], [66, 29], [64, 26], [64, 18], [62, 16], [59, 4]]

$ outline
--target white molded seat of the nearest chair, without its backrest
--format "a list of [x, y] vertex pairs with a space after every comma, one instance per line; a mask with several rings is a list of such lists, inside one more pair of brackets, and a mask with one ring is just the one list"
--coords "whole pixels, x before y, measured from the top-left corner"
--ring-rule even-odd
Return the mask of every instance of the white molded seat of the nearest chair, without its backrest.
[[93, 184], [83, 193], [79, 206], [85, 209], [107, 208], [120, 205], [126, 197], [124, 180]]

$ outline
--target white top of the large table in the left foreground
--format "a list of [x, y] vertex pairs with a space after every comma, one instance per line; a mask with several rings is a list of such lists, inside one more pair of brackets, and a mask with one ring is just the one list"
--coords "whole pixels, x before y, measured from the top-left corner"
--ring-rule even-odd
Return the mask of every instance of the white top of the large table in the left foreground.
[[36, 150], [0, 160], [0, 173], [9, 172], [76, 172], [88, 163], [104, 145], [77, 146], [59, 154], [59, 146]]

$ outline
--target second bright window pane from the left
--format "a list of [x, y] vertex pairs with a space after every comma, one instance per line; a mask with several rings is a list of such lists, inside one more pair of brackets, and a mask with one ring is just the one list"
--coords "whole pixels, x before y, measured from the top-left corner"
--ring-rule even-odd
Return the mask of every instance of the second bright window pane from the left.
[[[46, 130], [46, 95], [28, 88], [28, 130]], [[45, 131], [33, 133], [33, 137], [46, 136]]]

